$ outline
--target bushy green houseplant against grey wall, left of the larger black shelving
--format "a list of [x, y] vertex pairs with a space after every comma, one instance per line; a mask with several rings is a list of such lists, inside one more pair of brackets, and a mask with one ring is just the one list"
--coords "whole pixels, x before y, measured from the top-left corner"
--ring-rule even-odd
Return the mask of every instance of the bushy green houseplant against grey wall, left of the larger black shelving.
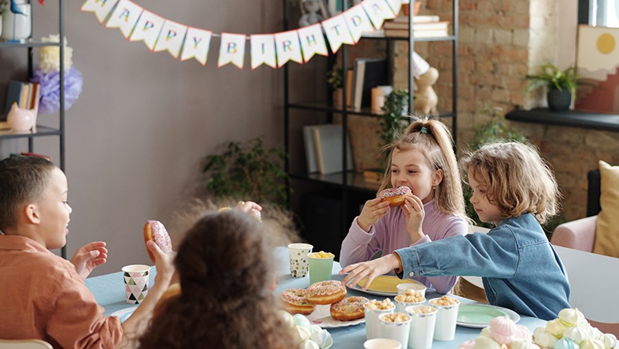
[[206, 156], [202, 172], [208, 182], [206, 189], [215, 198], [252, 200], [287, 204], [288, 174], [283, 170], [287, 155], [283, 147], [265, 149], [262, 138], [246, 142], [228, 142], [221, 154]]

